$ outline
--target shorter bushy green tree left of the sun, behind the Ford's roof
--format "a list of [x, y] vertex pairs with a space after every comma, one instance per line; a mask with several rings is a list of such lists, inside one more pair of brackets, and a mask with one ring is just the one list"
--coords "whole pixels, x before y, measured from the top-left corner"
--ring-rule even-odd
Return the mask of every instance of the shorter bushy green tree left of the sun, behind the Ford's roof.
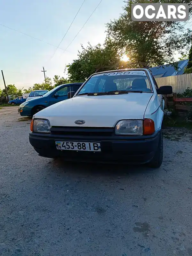
[[67, 65], [68, 76], [71, 82], [84, 82], [97, 68], [114, 65], [120, 61], [120, 52], [117, 47], [106, 39], [104, 45], [86, 48], [82, 45], [82, 52], [78, 52], [78, 58]]

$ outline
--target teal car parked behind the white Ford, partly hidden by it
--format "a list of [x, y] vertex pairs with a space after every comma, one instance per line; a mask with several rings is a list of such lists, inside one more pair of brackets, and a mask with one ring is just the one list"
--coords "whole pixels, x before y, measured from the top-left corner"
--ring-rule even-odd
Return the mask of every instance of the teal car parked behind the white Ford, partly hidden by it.
[[68, 99], [68, 92], [76, 92], [83, 83], [62, 84], [42, 97], [27, 100], [19, 106], [18, 112], [21, 116], [33, 116], [40, 110], [47, 108], [59, 101]]

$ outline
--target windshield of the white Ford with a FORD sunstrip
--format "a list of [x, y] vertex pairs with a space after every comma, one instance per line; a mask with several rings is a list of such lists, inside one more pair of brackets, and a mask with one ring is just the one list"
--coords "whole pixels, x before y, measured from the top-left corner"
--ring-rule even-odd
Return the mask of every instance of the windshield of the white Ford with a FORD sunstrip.
[[77, 95], [113, 91], [152, 92], [146, 72], [138, 70], [93, 75]]

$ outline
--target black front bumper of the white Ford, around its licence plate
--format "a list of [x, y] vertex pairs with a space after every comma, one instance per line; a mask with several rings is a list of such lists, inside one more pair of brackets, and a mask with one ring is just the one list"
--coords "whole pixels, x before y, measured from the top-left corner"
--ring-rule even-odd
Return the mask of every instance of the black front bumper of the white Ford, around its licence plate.
[[[39, 156], [69, 161], [147, 163], [159, 145], [161, 130], [141, 136], [66, 136], [29, 133], [30, 144]], [[55, 141], [100, 142], [101, 152], [58, 150]]]

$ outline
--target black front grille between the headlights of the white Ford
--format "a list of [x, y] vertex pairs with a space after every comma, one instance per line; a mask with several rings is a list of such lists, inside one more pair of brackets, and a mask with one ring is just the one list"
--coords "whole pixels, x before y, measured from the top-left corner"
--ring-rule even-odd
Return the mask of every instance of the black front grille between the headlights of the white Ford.
[[52, 126], [51, 134], [72, 136], [112, 136], [114, 128]]

